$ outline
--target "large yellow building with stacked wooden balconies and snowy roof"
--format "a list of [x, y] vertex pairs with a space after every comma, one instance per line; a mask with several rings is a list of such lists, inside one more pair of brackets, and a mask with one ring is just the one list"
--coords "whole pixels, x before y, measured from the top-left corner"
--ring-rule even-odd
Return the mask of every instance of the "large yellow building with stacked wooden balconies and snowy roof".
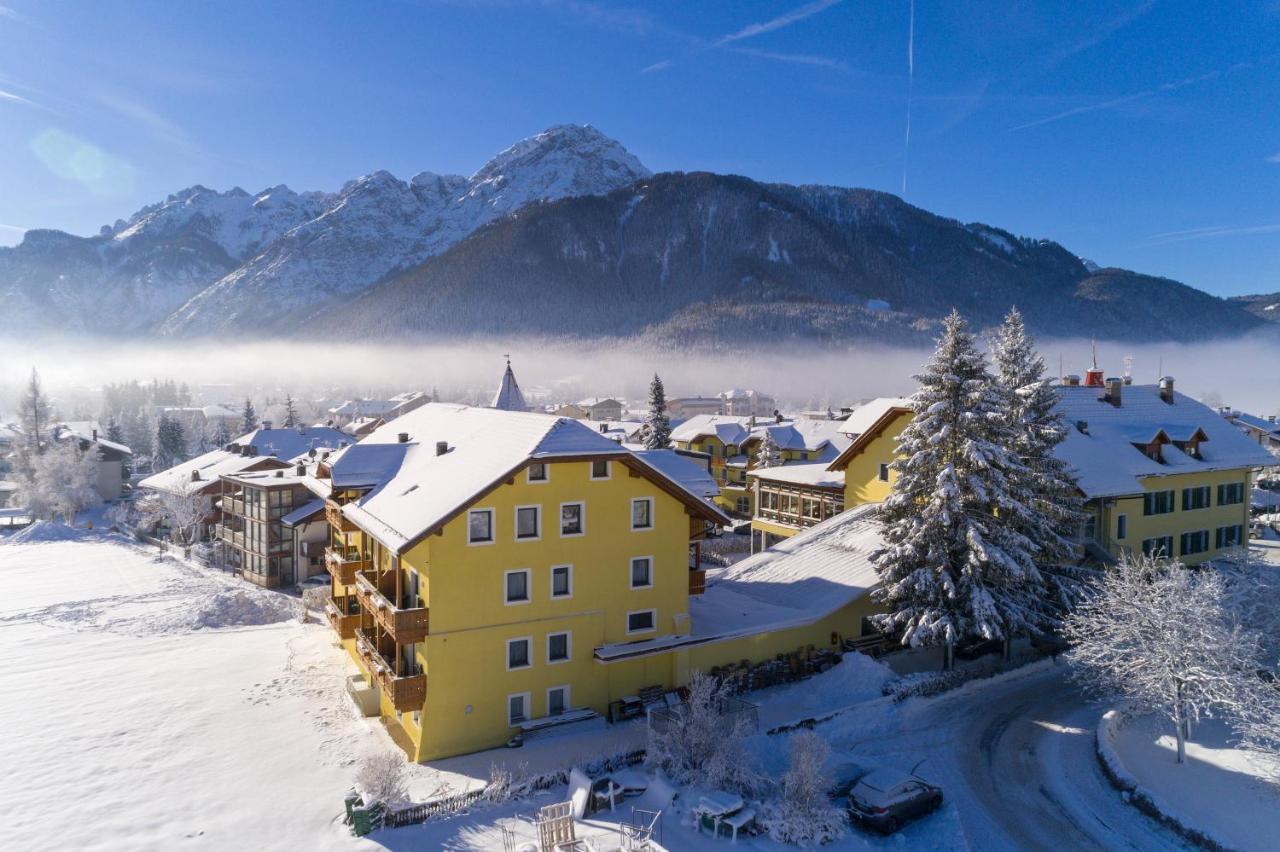
[[[684, 462], [682, 462], [684, 463]], [[415, 760], [675, 688], [714, 505], [579, 421], [429, 404], [328, 459], [329, 618]], [[695, 565], [696, 567], [696, 565]]]

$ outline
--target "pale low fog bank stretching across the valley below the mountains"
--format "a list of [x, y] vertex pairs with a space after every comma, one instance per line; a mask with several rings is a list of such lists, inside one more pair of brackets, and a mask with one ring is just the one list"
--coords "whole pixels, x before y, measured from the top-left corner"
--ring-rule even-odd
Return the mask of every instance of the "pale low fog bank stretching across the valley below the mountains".
[[[1055, 376], [1060, 363], [1065, 372], [1083, 374], [1091, 362], [1088, 340], [1046, 340], [1041, 352]], [[530, 339], [425, 345], [0, 339], [0, 413], [14, 411], [32, 367], [64, 416], [95, 412], [102, 385], [133, 379], [187, 383], [200, 404], [246, 395], [259, 400], [291, 393], [320, 400], [433, 389], [448, 400], [488, 403], [507, 353], [521, 388], [545, 402], [595, 395], [643, 400], [658, 372], [668, 397], [755, 388], [788, 408], [840, 408], [909, 393], [911, 375], [929, 356], [924, 349], [874, 344], [832, 349], [787, 340], [762, 340], [751, 352], [677, 352]], [[1097, 353], [1107, 375], [1121, 375], [1130, 356], [1138, 384], [1153, 383], [1164, 372], [1176, 377], [1179, 390], [1211, 404], [1260, 414], [1280, 409], [1275, 335], [1190, 345], [1098, 343]]]

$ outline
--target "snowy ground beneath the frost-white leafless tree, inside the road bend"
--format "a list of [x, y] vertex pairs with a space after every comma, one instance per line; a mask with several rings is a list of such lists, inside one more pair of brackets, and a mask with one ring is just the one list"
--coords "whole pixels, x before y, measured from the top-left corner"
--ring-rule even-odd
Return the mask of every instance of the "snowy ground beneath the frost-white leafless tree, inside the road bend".
[[[1120, 762], [1167, 812], [1233, 849], [1274, 849], [1280, 838], [1280, 787], [1260, 778], [1267, 766], [1230, 745], [1230, 729], [1207, 719], [1196, 725], [1179, 766], [1169, 722], [1146, 716], [1120, 728]], [[1261, 762], [1260, 762], [1261, 760]]]

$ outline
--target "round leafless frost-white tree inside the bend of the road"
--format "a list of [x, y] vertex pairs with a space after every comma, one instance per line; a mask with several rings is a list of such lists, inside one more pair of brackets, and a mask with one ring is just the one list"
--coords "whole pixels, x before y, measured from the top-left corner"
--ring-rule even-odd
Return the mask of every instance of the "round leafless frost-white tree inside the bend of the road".
[[[1178, 762], [1190, 725], [1238, 715], [1258, 645], [1233, 617], [1221, 573], [1162, 556], [1125, 556], [1065, 619], [1073, 675], [1174, 727]], [[1254, 678], [1256, 679], [1256, 678]]]

